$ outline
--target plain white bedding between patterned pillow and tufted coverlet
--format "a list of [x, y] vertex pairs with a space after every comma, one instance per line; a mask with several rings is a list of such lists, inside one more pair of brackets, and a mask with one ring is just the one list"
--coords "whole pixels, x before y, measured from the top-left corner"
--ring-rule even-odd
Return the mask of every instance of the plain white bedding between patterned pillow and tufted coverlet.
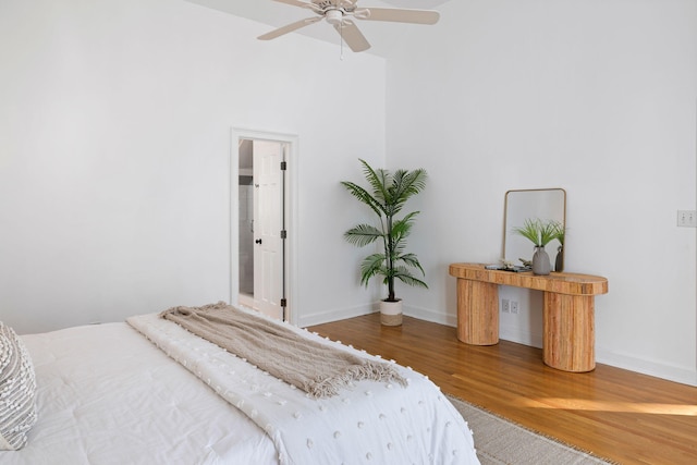
[[22, 336], [38, 420], [0, 464], [276, 464], [252, 420], [125, 322]]

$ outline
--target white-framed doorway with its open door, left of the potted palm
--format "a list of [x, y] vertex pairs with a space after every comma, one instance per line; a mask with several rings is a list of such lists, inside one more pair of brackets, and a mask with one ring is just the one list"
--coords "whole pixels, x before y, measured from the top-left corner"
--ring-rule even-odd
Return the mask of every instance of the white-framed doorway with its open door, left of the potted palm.
[[231, 303], [294, 322], [288, 285], [294, 137], [233, 130], [232, 142]]

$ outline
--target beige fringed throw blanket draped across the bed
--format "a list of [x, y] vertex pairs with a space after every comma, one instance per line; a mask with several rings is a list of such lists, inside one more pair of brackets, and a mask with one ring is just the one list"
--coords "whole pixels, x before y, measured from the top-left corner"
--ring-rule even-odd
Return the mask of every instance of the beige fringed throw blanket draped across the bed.
[[352, 380], [392, 380], [406, 386], [390, 364], [360, 358], [303, 338], [224, 302], [203, 307], [173, 307], [160, 316], [314, 397], [335, 395]]

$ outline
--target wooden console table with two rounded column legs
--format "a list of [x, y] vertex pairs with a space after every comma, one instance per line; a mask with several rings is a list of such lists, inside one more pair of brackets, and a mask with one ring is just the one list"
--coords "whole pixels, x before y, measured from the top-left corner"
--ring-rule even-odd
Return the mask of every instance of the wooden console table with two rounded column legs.
[[452, 264], [457, 278], [457, 339], [466, 344], [499, 342], [499, 285], [545, 292], [545, 364], [564, 371], [596, 367], [595, 296], [608, 293], [608, 280], [577, 273], [548, 276], [488, 270], [482, 264]]

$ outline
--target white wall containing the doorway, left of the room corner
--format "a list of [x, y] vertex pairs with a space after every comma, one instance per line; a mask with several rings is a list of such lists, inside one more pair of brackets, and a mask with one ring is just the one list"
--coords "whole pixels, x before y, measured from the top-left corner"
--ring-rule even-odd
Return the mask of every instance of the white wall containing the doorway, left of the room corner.
[[0, 320], [228, 301], [233, 126], [298, 135], [303, 310], [369, 308], [334, 219], [338, 180], [384, 160], [384, 60], [269, 28], [179, 0], [0, 3]]

